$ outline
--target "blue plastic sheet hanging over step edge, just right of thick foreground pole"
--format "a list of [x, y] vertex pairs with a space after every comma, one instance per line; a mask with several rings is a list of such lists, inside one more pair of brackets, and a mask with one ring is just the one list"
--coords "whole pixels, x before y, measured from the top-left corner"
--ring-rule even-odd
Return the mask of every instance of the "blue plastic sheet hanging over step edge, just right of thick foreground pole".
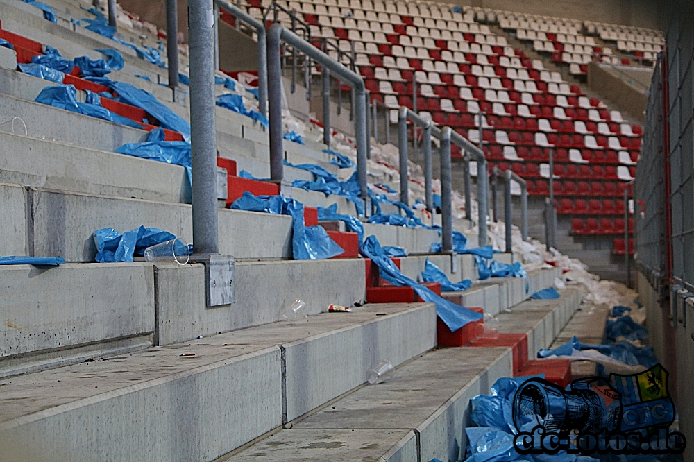
[[322, 226], [306, 226], [304, 206], [294, 199], [278, 196], [253, 196], [248, 191], [231, 205], [235, 210], [266, 212], [291, 216], [291, 251], [296, 260], [316, 260], [335, 257], [344, 249], [335, 243]]

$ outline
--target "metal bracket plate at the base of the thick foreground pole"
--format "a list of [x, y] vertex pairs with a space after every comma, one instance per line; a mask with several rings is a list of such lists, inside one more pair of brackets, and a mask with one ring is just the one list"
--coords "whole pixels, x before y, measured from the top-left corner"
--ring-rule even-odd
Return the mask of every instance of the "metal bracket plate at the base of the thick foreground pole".
[[231, 255], [192, 255], [196, 263], [205, 265], [205, 295], [208, 307], [236, 303], [235, 262]]

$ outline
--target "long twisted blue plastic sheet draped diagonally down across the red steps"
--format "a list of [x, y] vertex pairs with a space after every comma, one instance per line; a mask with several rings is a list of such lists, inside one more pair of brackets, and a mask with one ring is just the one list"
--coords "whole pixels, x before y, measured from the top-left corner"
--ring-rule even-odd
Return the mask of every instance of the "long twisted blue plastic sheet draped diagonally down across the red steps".
[[362, 254], [369, 257], [371, 261], [380, 269], [381, 277], [395, 286], [409, 286], [414, 289], [417, 295], [425, 302], [434, 303], [437, 307], [439, 318], [451, 331], [456, 331], [472, 321], [482, 318], [482, 314], [475, 313], [467, 308], [456, 305], [448, 300], [439, 297], [422, 284], [403, 275], [400, 269], [389, 259], [376, 239], [369, 236], [362, 246]]

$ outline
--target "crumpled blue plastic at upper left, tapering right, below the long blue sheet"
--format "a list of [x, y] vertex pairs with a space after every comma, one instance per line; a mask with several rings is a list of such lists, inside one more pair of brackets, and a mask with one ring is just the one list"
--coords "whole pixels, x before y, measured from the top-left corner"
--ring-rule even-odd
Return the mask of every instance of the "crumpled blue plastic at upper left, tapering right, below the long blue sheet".
[[99, 95], [87, 90], [87, 103], [77, 102], [77, 90], [72, 85], [58, 85], [56, 87], [45, 87], [34, 100], [37, 103], [53, 106], [78, 114], [84, 114], [97, 119], [103, 119], [121, 125], [142, 128], [135, 121], [123, 117], [115, 112], [101, 106]]

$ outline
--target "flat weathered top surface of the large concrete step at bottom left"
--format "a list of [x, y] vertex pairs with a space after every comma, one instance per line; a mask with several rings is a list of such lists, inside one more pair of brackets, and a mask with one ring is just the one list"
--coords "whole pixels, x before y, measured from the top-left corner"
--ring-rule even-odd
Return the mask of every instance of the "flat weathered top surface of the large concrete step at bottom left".
[[150, 382], [157, 379], [182, 373], [195, 374], [196, 370], [221, 367], [223, 363], [236, 361], [240, 357], [264, 354], [266, 350], [276, 349], [277, 345], [309, 341], [314, 336], [330, 335], [359, 325], [387, 322], [393, 316], [408, 311], [431, 310], [432, 307], [425, 303], [364, 305], [353, 308], [352, 313], [324, 313], [295, 322], [281, 321], [249, 327], [203, 339], [148, 348], [142, 352], [2, 379], [0, 422], [87, 398], [109, 399], [112, 397], [109, 393], [128, 393], [133, 391], [133, 387], [155, 386]]

